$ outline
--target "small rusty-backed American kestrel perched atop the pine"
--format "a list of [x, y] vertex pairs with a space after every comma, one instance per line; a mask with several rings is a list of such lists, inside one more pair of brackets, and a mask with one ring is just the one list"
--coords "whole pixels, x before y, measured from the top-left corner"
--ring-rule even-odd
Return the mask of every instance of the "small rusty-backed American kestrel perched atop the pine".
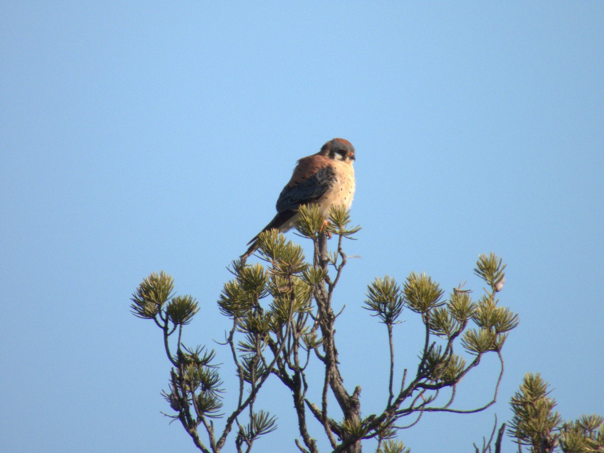
[[[298, 160], [292, 179], [283, 188], [277, 200], [277, 215], [262, 231], [277, 229], [281, 233], [295, 226], [298, 220], [300, 204], [317, 204], [324, 218], [329, 216], [329, 209], [343, 204], [350, 208], [355, 195], [355, 147], [343, 138], [330, 140], [321, 150], [312, 156]], [[260, 234], [259, 233], [259, 234]], [[256, 239], [248, 242], [246, 259], [258, 248]]]

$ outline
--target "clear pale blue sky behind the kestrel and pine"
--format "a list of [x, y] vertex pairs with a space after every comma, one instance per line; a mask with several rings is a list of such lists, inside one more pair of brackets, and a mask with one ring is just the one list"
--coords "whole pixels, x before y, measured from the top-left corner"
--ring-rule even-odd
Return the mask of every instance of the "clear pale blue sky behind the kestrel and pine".
[[[603, 2], [2, 2], [0, 16], [2, 451], [196, 451], [160, 414], [169, 367], [130, 294], [172, 274], [201, 303], [185, 341], [217, 347], [232, 385], [213, 343], [226, 265], [295, 161], [336, 136], [358, 155], [363, 230], [346, 250], [362, 258], [335, 305], [364, 414], [387, 382], [366, 285], [426, 271], [478, 297], [472, 268], [492, 251], [521, 317], [499, 402], [426, 414], [400, 439], [472, 451], [528, 371], [566, 419], [604, 413]], [[399, 376], [422, 338], [404, 317]], [[488, 401], [496, 373], [485, 360], [454, 406]], [[257, 451], [296, 451], [288, 394], [260, 404], [280, 429]]]

